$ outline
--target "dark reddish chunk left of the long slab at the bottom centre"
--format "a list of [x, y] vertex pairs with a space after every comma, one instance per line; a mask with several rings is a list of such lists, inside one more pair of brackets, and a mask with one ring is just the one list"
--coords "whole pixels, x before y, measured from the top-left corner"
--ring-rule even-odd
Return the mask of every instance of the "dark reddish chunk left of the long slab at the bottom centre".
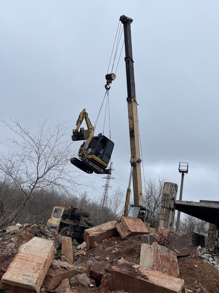
[[100, 285], [102, 276], [111, 271], [113, 263], [108, 261], [92, 261], [91, 262], [91, 277], [96, 281], [96, 284]]

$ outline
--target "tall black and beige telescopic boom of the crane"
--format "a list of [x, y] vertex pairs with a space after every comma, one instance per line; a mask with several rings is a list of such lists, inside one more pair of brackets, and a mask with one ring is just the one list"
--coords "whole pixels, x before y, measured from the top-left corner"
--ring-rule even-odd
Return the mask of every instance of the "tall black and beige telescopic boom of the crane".
[[133, 195], [134, 204], [143, 205], [142, 201], [142, 183], [141, 183], [141, 159], [138, 140], [138, 115], [137, 102], [135, 100], [135, 78], [134, 78], [134, 61], [132, 58], [132, 43], [131, 43], [131, 23], [133, 19], [122, 15], [120, 16], [121, 23], [124, 25], [125, 38], [125, 62], [126, 62], [126, 81], [127, 81], [127, 102], [128, 102], [128, 123], [129, 137], [131, 148], [131, 166], [133, 166]]

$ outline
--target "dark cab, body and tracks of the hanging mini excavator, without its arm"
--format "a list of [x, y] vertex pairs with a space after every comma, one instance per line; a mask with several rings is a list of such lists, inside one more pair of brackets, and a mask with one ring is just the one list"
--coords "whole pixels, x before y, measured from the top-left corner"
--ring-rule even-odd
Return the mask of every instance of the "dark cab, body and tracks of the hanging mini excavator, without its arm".
[[94, 136], [87, 148], [85, 142], [79, 149], [79, 158], [72, 158], [73, 165], [86, 173], [110, 174], [111, 170], [106, 169], [114, 148], [114, 143], [104, 135]]

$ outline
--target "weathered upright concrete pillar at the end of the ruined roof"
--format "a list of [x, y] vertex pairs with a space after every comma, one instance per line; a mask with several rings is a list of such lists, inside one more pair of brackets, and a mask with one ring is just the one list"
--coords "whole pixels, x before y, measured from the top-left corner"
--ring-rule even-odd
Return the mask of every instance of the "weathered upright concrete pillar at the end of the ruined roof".
[[173, 222], [175, 216], [175, 199], [177, 195], [177, 189], [178, 185], [176, 183], [164, 183], [159, 229], [166, 228], [173, 230]]

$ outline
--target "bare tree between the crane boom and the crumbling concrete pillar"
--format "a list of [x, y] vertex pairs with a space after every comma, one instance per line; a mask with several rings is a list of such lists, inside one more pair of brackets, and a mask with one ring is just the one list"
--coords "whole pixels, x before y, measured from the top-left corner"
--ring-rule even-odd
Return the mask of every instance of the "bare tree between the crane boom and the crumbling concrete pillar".
[[143, 205], [150, 209], [151, 227], [156, 229], [158, 229], [162, 192], [164, 188], [164, 182], [166, 181], [167, 179], [162, 177], [159, 177], [158, 180], [151, 180], [149, 178], [143, 193]]

